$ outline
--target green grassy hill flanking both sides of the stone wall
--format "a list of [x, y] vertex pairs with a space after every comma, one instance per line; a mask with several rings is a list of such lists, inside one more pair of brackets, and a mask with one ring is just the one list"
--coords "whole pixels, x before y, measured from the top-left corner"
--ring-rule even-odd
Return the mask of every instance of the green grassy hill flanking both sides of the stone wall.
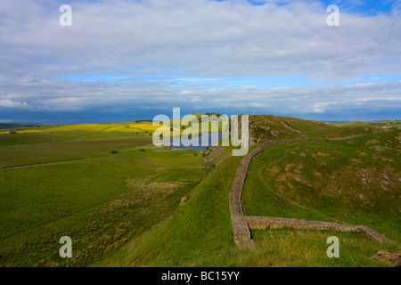
[[[378, 130], [374, 128], [340, 128], [296, 118], [282, 118], [282, 120], [287, 125], [300, 129], [303, 133], [309, 132], [309, 135], [315, 134], [316, 137], [333, 137], [335, 134], [340, 134], [340, 136], [367, 135], [344, 142], [322, 140], [283, 143], [266, 151], [259, 159], [252, 162], [250, 167], [243, 194], [247, 215], [295, 217], [330, 222], [332, 222], [330, 217], [333, 216], [347, 221], [349, 224], [366, 224], [395, 240], [395, 245], [383, 246], [355, 232], [266, 230], [252, 231], [253, 239], [258, 247], [257, 252], [247, 252], [235, 248], [233, 246], [231, 222], [227, 212], [229, 211], [228, 195], [233, 183], [233, 173], [239, 165], [239, 159], [226, 156], [225, 162], [210, 171], [209, 175], [193, 190], [192, 199], [179, 208], [175, 216], [166, 221], [165, 224], [161, 224], [160, 227], [153, 229], [143, 239], [136, 240], [135, 246], [129, 249], [128, 247], [122, 248], [114, 256], [94, 265], [383, 265], [372, 261], [370, 257], [381, 248], [399, 248], [401, 241], [398, 234], [401, 224], [397, 215], [400, 188], [397, 179], [401, 177], [401, 174], [399, 173], [399, 163], [395, 163], [399, 161], [400, 156], [399, 134], [397, 132], [375, 134], [378, 133]], [[274, 124], [275, 121], [272, 117], [253, 117], [252, 122], [254, 124], [262, 123], [262, 127], [258, 127], [258, 129], [261, 132], [265, 131], [264, 134], [267, 134], [266, 131], [279, 130], [277, 135], [279, 138], [297, 137], [295, 134], [287, 132], [282, 126]], [[270, 128], [266, 130], [266, 126]], [[380, 152], [379, 155], [377, 151], [379, 149], [375, 148], [371, 142], [387, 144], [385, 151]], [[301, 156], [299, 156], [300, 153], [302, 153]], [[303, 153], [306, 153], [305, 157]], [[225, 156], [225, 153], [221, 156]], [[358, 160], [360, 159], [359, 156], [363, 157], [361, 161]], [[392, 159], [386, 160], [387, 157]], [[299, 160], [302, 161], [303, 167], [297, 164]], [[280, 188], [280, 190], [288, 193], [289, 199], [294, 199], [294, 201], [305, 204], [307, 208], [316, 209], [323, 214], [295, 207], [291, 201], [279, 199], [272, 192], [267, 191], [262, 180], [258, 177], [258, 168], [268, 166], [267, 169], [263, 168], [263, 170], [270, 170], [270, 161], [277, 161], [277, 164], [283, 165], [284, 169], [287, 164], [293, 167], [293, 169], [284, 170], [284, 172], [295, 171], [298, 174], [299, 171], [302, 171], [302, 174], [307, 175], [307, 177], [299, 177], [299, 184], [295, 182], [291, 186], [284, 185], [287, 187]], [[323, 167], [323, 164], [327, 164], [327, 167]], [[273, 166], [275, 167], [274, 164]], [[388, 190], [378, 189], [380, 183], [376, 181], [370, 189], [372, 193], [365, 191], [364, 188], [358, 191], [358, 187], [361, 187], [361, 183], [363, 183], [363, 177], [360, 177], [360, 181], [355, 181], [356, 171], [352, 169], [356, 166], [362, 169], [361, 175], [364, 173], [363, 167], [372, 167], [366, 169], [373, 171], [376, 174], [376, 179], [379, 178], [377, 176], [381, 175], [381, 170], [387, 171], [391, 177], [389, 178], [391, 183], [387, 185]], [[389, 166], [395, 168], [391, 168], [393, 170], [389, 171]], [[340, 173], [345, 176], [340, 175]], [[331, 178], [333, 175], [337, 175], [337, 184], [331, 183], [331, 180], [334, 179]], [[302, 186], [302, 179], [308, 179], [311, 186]], [[369, 179], [373, 178], [369, 177]], [[380, 182], [385, 183], [386, 180]], [[344, 192], [343, 189], [349, 186], [348, 183], [355, 183], [353, 185], [355, 191], [346, 192], [347, 196], [344, 197], [338, 191]], [[323, 187], [324, 185], [326, 188]], [[334, 192], [333, 197], [335, 199], [331, 197], [332, 192]], [[363, 193], [364, 196], [361, 196]], [[330, 259], [325, 254], [326, 240], [332, 235], [341, 240], [342, 258], [340, 259]]]

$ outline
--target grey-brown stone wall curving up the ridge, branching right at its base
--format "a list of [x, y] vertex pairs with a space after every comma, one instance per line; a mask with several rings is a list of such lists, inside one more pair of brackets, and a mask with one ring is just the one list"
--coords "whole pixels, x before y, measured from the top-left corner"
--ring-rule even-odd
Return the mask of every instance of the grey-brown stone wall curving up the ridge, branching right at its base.
[[[356, 136], [359, 135], [327, 138], [327, 140], [333, 140], [333, 141], [348, 140]], [[365, 225], [336, 224], [329, 222], [307, 221], [301, 219], [291, 219], [291, 218], [282, 218], [273, 216], [245, 215], [242, 206], [241, 194], [242, 194], [243, 184], [245, 183], [246, 175], [248, 172], [248, 167], [250, 166], [250, 161], [258, 157], [260, 153], [265, 151], [268, 147], [273, 146], [275, 143], [294, 142], [306, 139], [305, 136], [302, 135], [302, 137], [304, 137], [304, 139], [272, 140], [263, 142], [256, 149], [250, 151], [241, 160], [229, 196], [230, 216], [231, 216], [231, 223], [233, 225], [233, 239], [235, 245], [238, 248], [248, 248], [250, 250], [256, 250], [255, 243], [253, 242], [250, 235], [250, 230], [263, 230], [266, 229], [267, 227], [271, 229], [294, 228], [302, 230], [313, 229], [313, 230], [333, 230], [339, 232], [361, 232], [366, 237], [372, 240], [392, 243], [393, 242], [392, 240], [389, 240], [380, 232], [373, 231], [371, 228]], [[322, 138], [319, 138], [318, 140], [322, 140]]]

